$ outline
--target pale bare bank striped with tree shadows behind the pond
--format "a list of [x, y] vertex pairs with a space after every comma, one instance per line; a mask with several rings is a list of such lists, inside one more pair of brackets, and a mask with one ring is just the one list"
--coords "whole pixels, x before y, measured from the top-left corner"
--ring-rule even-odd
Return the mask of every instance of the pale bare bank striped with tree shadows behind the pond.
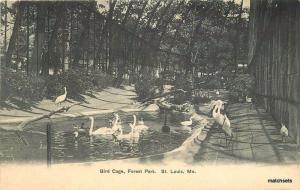
[[[76, 117], [80, 115], [95, 115], [100, 113], [109, 113], [116, 110], [139, 110], [140, 104], [135, 102], [136, 93], [131, 86], [125, 86], [124, 89], [109, 87], [101, 92], [95, 92], [92, 96], [84, 95], [84, 102], [73, 106], [67, 113], [60, 113], [55, 117]], [[67, 106], [77, 103], [74, 100], [68, 100], [61, 106]], [[0, 126], [20, 123], [31, 117], [50, 113], [59, 106], [51, 100], [43, 100], [38, 104], [29, 107], [20, 107], [13, 104], [0, 109]]]

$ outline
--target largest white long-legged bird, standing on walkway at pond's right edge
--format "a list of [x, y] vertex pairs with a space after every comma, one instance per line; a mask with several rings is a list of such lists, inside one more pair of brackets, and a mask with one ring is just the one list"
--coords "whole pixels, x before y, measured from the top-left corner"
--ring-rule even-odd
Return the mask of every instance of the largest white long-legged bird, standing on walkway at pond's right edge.
[[231, 129], [231, 124], [230, 120], [226, 116], [226, 114], [221, 114], [220, 112], [220, 105], [216, 105], [215, 108], [213, 109], [213, 118], [215, 119], [216, 123], [221, 126], [224, 134], [225, 134], [225, 139], [226, 139], [226, 146], [227, 146], [227, 137], [229, 136], [230, 138], [233, 137], [232, 129]]

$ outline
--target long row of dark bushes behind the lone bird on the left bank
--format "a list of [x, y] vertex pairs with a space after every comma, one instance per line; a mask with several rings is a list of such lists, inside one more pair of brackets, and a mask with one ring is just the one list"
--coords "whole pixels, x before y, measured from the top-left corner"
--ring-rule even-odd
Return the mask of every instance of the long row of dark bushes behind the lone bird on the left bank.
[[85, 69], [72, 69], [47, 77], [7, 68], [2, 72], [7, 99], [22, 101], [40, 101], [44, 97], [52, 99], [64, 92], [63, 87], [67, 87], [69, 98], [77, 98], [89, 90], [100, 90], [112, 84], [109, 75], [101, 72], [87, 74]]

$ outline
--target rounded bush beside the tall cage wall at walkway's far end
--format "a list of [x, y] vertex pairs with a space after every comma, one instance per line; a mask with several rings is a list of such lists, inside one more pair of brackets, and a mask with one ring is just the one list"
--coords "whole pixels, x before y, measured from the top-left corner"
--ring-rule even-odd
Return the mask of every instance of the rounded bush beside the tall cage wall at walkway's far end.
[[229, 82], [228, 89], [232, 100], [244, 99], [254, 91], [254, 77], [249, 74], [239, 74]]

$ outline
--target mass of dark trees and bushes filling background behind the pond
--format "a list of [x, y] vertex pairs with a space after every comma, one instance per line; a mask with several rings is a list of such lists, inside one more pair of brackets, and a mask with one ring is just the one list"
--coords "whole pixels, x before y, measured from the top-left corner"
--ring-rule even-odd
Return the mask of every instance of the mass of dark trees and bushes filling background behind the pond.
[[[231, 72], [247, 60], [248, 10], [235, 1], [7, 2], [0, 3], [6, 37], [1, 38], [1, 64], [15, 72], [6, 79], [16, 83], [7, 85], [13, 96], [23, 90], [28, 98], [35, 91], [40, 93], [35, 99], [52, 98], [66, 86], [76, 97], [107, 86], [109, 75], [121, 85], [124, 76], [139, 73], [136, 89], [143, 99], [162, 86], [149, 74], [154, 68], [180, 73], [173, 81], [160, 81], [190, 91], [186, 76]], [[150, 69], [144, 72], [144, 67]], [[217, 78], [200, 80], [209, 88], [223, 85]], [[176, 102], [190, 95], [178, 95]]]

